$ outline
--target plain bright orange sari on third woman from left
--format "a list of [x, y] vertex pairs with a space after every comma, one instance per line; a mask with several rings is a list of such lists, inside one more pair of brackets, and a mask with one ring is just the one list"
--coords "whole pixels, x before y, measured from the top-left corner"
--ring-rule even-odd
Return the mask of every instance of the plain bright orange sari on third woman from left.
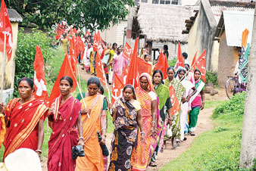
[[[90, 109], [89, 117], [87, 117], [87, 114], [82, 114], [84, 151], [86, 156], [77, 157], [76, 171], [104, 170], [103, 154], [97, 135], [97, 131], [101, 132], [101, 111], [104, 98], [104, 95], [98, 94], [84, 98], [86, 107]], [[82, 104], [83, 107], [84, 105]]]

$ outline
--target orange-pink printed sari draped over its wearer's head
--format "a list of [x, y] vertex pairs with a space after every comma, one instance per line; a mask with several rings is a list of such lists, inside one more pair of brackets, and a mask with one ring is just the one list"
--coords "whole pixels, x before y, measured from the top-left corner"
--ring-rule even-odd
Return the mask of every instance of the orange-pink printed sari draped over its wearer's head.
[[[148, 89], [155, 93], [155, 90], [152, 86], [148, 73], [142, 73], [140, 78], [142, 76], [145, 76], [148, 79], [148, 84], [149, 84]], [[137, 141], [137, 147], [133, 151], [133, 155], [132, 155], [133, 156], [132, 166], [133, 166], [133, 170], [145, 170], [148, 167], [148, 164], [150, 163], [150, 160], [151, 160], [151, 156], [158, 145], [162, 125], [161, 125], [161, 119], [160, 119], [160, 112], [159, 112], [159, 109], [157, 109], [155, 121], [157, 123], [158, 132], [156, 136], [149, 135], [152, 127], [151, 97], [148, 95], [148, 92], [145, 92], [145, 90], [142, 89], [142, 87], [139, 85], [139, 87], [136, 88], [136, 98], [140, 102], [142, 107], [142, 121], [143, 121], [143, 128], [145, 132], [145, 142], [142, 144], [141, 141]], [[141, 138], [141, 135], [139, 132], [138, 139], [140, 138]]]

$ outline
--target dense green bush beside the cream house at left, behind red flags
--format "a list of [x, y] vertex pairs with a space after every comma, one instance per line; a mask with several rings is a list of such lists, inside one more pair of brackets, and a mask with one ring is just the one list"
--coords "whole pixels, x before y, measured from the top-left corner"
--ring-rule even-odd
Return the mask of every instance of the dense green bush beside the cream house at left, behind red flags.
[[[52, 58], [52, 39], [46, 33], [33, 30], [32, 33], [23, 33], [20, 30], [17, 36], [17, 49], [15, 60], [14, 97], [18, 97], [17, 82], [20, 78], [28, 77], [33, 79], [33, 62], [36, 55], [36, 45], [42, 50], [45, 62]], [[45, 70], [46, 72], [46, 70]]]

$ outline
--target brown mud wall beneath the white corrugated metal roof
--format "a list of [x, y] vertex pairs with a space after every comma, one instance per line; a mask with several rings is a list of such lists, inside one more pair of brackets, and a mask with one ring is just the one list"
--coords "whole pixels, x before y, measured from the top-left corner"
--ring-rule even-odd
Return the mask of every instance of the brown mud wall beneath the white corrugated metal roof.
[[218, 60], [218, 83], [224, 87], [227, 76], [233, 76], [238, 60], [237, 49], [226, 45], [226, 32], [220, 36], [220, 49]]

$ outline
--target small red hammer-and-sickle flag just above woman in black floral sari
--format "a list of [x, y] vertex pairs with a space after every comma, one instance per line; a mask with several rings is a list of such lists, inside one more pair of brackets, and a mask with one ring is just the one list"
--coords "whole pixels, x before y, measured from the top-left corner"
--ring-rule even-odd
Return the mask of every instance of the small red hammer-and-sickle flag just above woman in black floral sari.
[[123, 81], [120, 79], [120, 77], [117, 75], [117, 73], [114, 73], [114, 83], [112, 88], [112, 95], [111, 95], [111, 102], [114, 104], [114, 101], [116, 101], [118, 98], [121, 98], [123, 95]]

